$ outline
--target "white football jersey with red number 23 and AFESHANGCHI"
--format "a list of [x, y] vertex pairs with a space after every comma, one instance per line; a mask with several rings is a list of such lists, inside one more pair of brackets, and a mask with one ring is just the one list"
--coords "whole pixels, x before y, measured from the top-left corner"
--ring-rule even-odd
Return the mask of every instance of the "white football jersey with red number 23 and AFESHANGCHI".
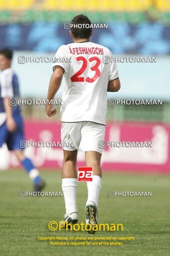
[[115, 62], [109, 61], [112, 53], [101, 45], [83, 42], [61, 45], [55, 57], [52, 67], [61, 66], [65, 78], [60, 120], [105, 124], [107, 84], [118, 78]]

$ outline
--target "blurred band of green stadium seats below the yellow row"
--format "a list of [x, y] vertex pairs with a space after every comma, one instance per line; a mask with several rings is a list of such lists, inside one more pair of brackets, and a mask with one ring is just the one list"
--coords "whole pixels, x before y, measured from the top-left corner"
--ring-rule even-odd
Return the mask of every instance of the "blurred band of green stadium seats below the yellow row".
[[[72, 17], [77, 15], [75, 11], [47, 11], [47, 10], [23, 10], [21, 13], [14, 14], [11, 10], [0, 11], [0, 23], [11, 23], [19, 21], [22, 23], [32, 23], [35, 21], [70, 21]], [[170, 24], [170, 13], [168, 12], [83, 12], [84, 15], [94, 22], [123, 21], [131, 24], [137, 24], [153, 17], [161, 23]]]

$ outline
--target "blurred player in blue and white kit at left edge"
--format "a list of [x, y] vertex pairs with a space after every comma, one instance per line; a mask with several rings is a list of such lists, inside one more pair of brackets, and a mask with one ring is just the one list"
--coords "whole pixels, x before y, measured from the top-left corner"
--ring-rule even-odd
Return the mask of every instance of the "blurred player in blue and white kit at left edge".
[[24, 156], [20, 141], [24, 141], [23, 120], [19, 105], [10, 106], [9, 99], [19, 98], [17, 76], [11, 69], [12, 51], [0, 50], [0, 147], [6, 143], [8, 150], [13, 151], [28, 176], [33, 181], [33, 190], [41, 191], [45, 183], [30, 159]]

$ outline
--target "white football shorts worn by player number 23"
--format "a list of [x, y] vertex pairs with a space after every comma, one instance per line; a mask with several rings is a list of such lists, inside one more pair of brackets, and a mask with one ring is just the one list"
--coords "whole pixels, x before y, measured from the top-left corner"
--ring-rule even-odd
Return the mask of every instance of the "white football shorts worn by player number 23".
[[105, 125], [90, 122], [62, 122], [61, 142], [63, 150], [96, 151], [102, 155], [99, 141], [104, 141]]

